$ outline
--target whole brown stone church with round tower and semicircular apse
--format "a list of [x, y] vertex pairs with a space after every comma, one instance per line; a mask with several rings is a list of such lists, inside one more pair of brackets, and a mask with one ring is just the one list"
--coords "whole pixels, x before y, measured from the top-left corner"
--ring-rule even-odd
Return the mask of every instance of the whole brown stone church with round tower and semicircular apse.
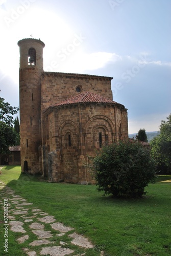
[[127, 109], [112, 99], [113, 78], [44, 72], [44, 43], [27, 38], [18, 46], [21, 171], [93, 183], [88, 156], [128, 139]]

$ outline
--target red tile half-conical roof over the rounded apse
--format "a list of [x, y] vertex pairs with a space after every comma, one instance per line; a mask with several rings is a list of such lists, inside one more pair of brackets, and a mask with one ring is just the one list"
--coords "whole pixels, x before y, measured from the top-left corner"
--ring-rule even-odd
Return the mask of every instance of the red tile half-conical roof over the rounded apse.
[[122, 105], [120, 103], [117, 103], [111, 99], [105, 98], [103, 96], [100, 96], [99, 94], [91, 93], [91, 92], [80, 93], [70, 99], [59, 102], [59, 103], [53, 105], [52, 107], [68, 105], [68, 104], [76, 104], [76, 103], [109, 103], [109, 104], [119, 104], [120, 106], [124, 107], [124, 105]]

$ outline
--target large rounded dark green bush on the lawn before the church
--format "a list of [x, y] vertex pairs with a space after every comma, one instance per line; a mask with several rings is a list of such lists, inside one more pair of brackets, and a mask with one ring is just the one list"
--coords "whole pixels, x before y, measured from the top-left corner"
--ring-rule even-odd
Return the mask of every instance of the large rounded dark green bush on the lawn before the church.
[[137, 141], [104, 146], [94, 157], [92, 169], [97, 189], [115, 197], [141, 197], [155, 179], [150, 150]]

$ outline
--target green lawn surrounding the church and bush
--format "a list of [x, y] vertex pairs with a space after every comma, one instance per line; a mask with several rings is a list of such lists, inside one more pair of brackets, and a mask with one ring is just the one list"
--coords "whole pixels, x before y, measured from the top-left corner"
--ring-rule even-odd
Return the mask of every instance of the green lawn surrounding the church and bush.
[[[171, 176], [157, 176], [145, 197], [126, 200], [103, 197], [95, 185], [49, 183], [20, 174], [20, 166], [2, 172], [0, 179], [17, 195], [88, 237], [95, 245], [89, 255], [100, 250], [106, 256], [171, 254]], [[10, 232], [11, 243], [21, 248], [15, 236]]]

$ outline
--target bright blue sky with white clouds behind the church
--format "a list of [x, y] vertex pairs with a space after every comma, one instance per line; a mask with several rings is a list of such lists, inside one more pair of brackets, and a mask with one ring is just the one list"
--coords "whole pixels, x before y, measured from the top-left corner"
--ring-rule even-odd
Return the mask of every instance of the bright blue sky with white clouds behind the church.
[[170, 0], [0, 0], [0, 97], [19, 106], [19, 47], [41, 39], [44, 71], [113, 77], [129, 134], [171, 113]]

